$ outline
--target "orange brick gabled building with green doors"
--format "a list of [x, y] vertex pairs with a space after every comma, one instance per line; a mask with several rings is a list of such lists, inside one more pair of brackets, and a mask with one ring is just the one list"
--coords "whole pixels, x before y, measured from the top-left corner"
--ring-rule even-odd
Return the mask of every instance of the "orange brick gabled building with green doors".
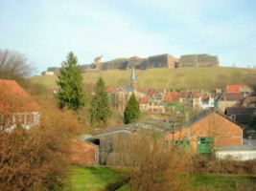
[[182, 144], [192, 152], [207, 154], [215, 146], [242, 145], [243, 129], [218, 112], [211, 112], [192, 118], [186, 126], [174, 127], [166, 140], [169, 145]]

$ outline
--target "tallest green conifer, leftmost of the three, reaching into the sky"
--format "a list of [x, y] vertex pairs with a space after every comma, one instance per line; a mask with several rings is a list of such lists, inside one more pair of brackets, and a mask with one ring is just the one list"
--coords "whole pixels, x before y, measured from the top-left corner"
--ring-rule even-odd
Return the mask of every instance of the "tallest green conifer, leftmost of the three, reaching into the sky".
[[61, 64], [57, 85], [59, 108], [67, 107], [76, 111], [84, 104], [81, 68], [77, 56], [72, 52], [67, 54], [66, 61]]

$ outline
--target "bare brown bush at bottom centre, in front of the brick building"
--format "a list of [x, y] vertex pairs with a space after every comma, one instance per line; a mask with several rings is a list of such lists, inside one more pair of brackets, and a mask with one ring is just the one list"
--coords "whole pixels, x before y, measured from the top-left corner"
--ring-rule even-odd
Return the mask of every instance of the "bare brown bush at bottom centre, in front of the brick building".
[[164, 145], [163, 135], [154, 131], [139, 132], [128, 142], [115, 149], [128, 167], [131, 190], [182, 190], [188, 185], [191, 160], [182, 147]]

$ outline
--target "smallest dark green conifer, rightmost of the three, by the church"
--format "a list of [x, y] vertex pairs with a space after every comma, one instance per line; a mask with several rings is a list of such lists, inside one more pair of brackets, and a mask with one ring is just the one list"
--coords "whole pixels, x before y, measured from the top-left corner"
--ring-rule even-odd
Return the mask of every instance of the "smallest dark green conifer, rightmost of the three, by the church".
[[134, 93], [128, 99], [128, 104], [124, 112], [124, 123], [132, 123], [138, 120], [140, 117], [140, 104], [136, 99]]

